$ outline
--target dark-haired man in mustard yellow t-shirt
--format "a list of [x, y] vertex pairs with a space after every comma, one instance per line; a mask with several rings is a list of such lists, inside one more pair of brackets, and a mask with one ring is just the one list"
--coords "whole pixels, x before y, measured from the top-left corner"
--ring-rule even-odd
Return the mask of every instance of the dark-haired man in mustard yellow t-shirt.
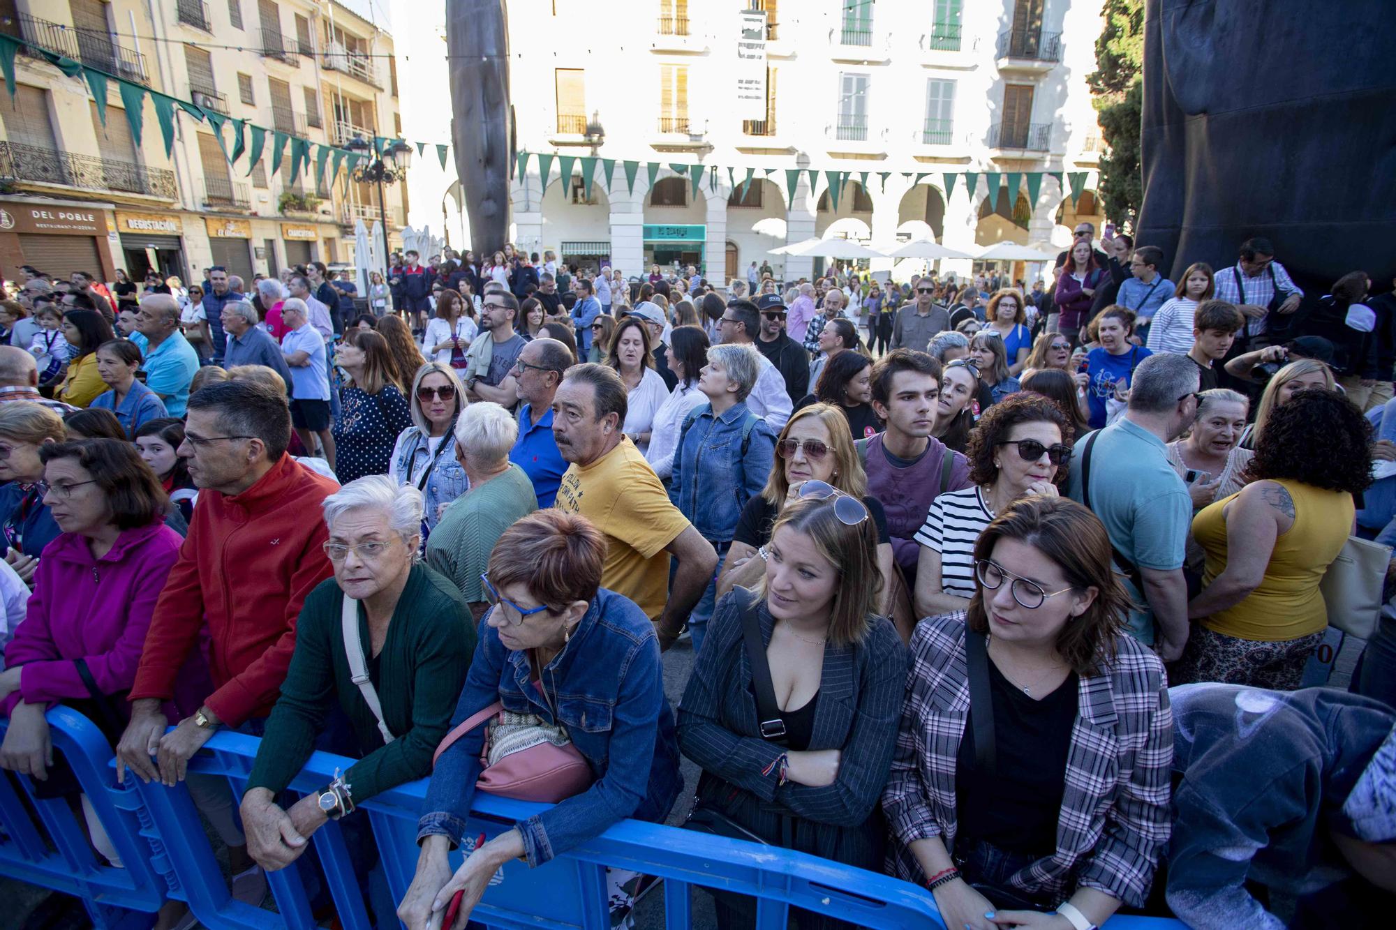
[[[621, 433], [625, 408], [625, 385], [613, 369], [567, 370], [553, 397], [553, 437], [570, 465], [554, 505], [586, 517], [606, 535], [602, 586], [639, 605], [667, 649], [712, 578], [718, 553]], [[673, 591], [670, 556], [678, 560]]]

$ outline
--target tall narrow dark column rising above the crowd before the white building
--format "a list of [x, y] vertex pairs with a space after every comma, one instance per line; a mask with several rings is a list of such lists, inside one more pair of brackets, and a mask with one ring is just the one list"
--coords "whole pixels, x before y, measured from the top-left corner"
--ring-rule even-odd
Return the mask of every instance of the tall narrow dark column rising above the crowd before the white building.
[[445, 0], [451, 141], [475, 251], [489, 256], [510, 228], [510, 38], [504, 0]]

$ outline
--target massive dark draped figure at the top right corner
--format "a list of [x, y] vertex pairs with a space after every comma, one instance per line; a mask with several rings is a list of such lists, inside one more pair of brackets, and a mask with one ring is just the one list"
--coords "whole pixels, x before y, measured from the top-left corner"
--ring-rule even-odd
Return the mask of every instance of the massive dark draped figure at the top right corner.
[[1148, 0], [1138, 242], [1173, 276], [1252, 235], [1311, 295], [1396, 274], [1392, 0]]

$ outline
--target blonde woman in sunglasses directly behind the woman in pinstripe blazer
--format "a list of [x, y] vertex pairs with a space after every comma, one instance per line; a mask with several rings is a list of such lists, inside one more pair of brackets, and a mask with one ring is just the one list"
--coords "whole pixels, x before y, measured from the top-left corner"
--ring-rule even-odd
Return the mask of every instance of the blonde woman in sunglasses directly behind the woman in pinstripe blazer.
[[[776, 461], [765, 489], [747, 501], [732, 536], [732, 547], [718, 573], [718, 598], [734, 585], [752, 586], [761, 578], [757, 550], [771, 542], [771, 528], [787, 501], [799, 500], [805, 482], [824, 482], [863, 501], [877, 531], [877, 564], [884, 582], [892, 577], [892, 540], [886, 512], [867, 493], [868, 478], [853, 445], [847, 419], [832, 404], [812, 404], [794, 412], [776, 437]], [[884, 584], [884, 593], [891, 585]], [[884, 605], [885, 606], [885, 605]]]

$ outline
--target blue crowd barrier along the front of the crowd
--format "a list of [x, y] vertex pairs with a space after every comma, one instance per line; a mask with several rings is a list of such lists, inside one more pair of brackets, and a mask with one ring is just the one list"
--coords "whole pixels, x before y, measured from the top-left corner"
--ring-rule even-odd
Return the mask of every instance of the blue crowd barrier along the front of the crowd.
[[[321, 888], [332, 898], [345, 930], [370, 930], [367, 883], [356, 878], [352, 838], [345, 824], [329, 822], [313, 839], [318, 867], [309, 855], [293, 866], [268, 873], [276, 910], [254, 908], [232, 898], [214, 849], [184, 785], [173, 789], [128, 779], [116, 785], [114, 761], [101, 733], [81, 715], [63, 708], [49, 714], [54, 746], [64, 750], [78, 779], [98, 804], [126, 870], [95, 864], [80, 824], [64, 802], [32, 802], [50, 841], [34, 828], [8, 779], [0, 778], [0, 874], [80, 895], [99, 927], [128, 930], [169, 898], [188, 902], [209, 930], [310, 930], [311, 894]], [[4, 723], [0, 722], [0, 728]], [[226, 778], [240, 797], [260, 740], [240, 733], [218, 733], [190, 769]], [[335, 767], [348, 761], [315, 753], [292, 782], [292, 792], [324, 786]], [[29, 790], [28, 778], [17, 781]], [[134, 781], [134, 786], [133, 782]], [[416, 824], [426, 782], [412, 782], [366, 802], [363, 811], [387, 878], [392, 901], [401, 901], [416, 870]], [[31, 792], [32, 800], [32, 792]], [[470, 834], [494, 836], [540, 810], [539, 804], [476, 795]], [[350, 818], [353, 820], [353, 818]], [[363, 820], [359, 821], [363, 824]], [[49, 849], [49, 845], [57, 852]], [[461, 853], [452, 855], [452, 866]], [[691, 888], [751, 895], [758, 901], [759, 930], [783, 930], [792, 906], [847, 920], [861, 927], [940, 927], [934, 898], [916, 885], [804, 853], [759, 846], [690, 831], [624, 821], [553, 862], [529, 869], [504, 866], [504, 881], [491, 885], [472, 919], [491, 927], [607, 930], [606, 869], [658, 876], [663, 883], [667, 927], [690, 927]], [[311, 874], [314, 873], [314, 874]], [[324, 884], [321, 885], [321, 878]], [[124, 909], [124, 910], [123, 910]], [[378, 909], [378, 926], [401, 926]], [[144, 913], [133, 913], [144, 912]], [[123, 920], [130, 917], [130, 924]], [[1110, 930], [1171, 930], [1175, 920], [1118, 916]]]

